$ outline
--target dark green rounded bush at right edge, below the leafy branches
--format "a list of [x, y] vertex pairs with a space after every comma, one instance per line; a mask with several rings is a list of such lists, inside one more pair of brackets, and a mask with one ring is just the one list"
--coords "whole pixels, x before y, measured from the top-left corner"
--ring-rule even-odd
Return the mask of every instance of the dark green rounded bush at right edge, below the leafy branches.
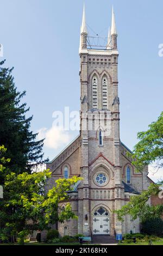
[[163, 235], [163, 221], [161, 218], [151, 218], [142, 223], [142, 232], [148, 235]]

